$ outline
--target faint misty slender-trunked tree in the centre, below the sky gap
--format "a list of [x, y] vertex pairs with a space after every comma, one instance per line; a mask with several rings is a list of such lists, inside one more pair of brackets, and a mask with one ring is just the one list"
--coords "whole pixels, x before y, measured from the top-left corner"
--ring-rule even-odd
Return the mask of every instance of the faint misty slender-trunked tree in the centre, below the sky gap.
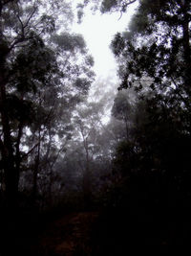
[[84, 162], [81, 163], [81, 166], [83, 168], [84, 200], [87, 207], [91, 203], [92, 163], [100, 153], [100, 146], [97, 144], [97, 138], [101, 130], [100, 116], [100, 105], [93, 102], [80, 105], [74, 115], [75, 138], [77, 141], [81, 141], [84, 153]]

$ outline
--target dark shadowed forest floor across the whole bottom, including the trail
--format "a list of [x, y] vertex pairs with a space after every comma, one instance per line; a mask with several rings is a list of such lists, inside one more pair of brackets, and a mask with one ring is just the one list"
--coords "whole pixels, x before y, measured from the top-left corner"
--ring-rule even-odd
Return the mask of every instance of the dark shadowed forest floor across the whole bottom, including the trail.
[[9, 221], [7, 234], [0, 233], [0, 256], [191, 255], [191, 221], [166, 220], [161, 212], [146, 218], [137, 210], [60, 212], [31, 224], [21, 218], [14, 228]]

